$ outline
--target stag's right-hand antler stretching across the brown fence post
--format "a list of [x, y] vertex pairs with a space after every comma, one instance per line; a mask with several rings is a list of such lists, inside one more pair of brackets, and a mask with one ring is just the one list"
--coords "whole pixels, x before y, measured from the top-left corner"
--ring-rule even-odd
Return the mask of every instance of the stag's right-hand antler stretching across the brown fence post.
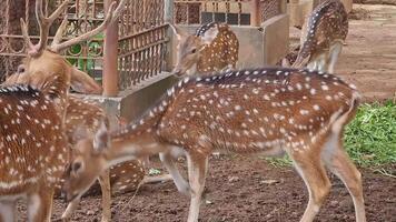
[[50, 50], [55, 51], [55, 52], [59, 52], [63, 49], [67, 49], [71, 46], [78, 43], [78, 42], [86, 41], [86, 40], [97, 36], [98, 33], [103, 31], [107, 28], [107, 26], [109, 26], [110, 23], [115, 22], [118, 19], [118, 17], [121, 14], [121, 12], [125, 9], [125, 7], [123, 7], [125, 2], [126, 2], [126, 0], [121, 0], [116, 10], [113, 10], [116, 7], [116, 2], [112, 2], [109, 7], [109, 10], [107, 11], [105, 21], [96, 29], [60, 43], [61, 34], [63, 33], [63, 31], [66, 29], [66, 21], [67, 21], [66, 19], [63, 19], [62, 24], [60, 26], [59, 30], [57, 31], [56, 38], [50, 47]]

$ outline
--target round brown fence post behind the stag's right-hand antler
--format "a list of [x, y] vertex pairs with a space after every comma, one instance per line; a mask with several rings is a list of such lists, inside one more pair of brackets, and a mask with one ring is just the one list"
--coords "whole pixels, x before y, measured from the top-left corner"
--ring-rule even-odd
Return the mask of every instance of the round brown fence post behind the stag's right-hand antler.
[[[108, 11], [111, 0], [105, 0], [105, 10]], [[105, 31], [103, 43], [103, 95], [118, 94], [118, 22], [108, 26]]]

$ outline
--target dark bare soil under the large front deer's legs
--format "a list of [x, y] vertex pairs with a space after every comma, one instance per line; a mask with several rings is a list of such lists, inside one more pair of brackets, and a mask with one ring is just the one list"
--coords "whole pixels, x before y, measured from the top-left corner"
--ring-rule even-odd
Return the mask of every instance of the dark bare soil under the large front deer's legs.
[[[184, 165], [180, 163], [180, 168]], [[396, 165], [389, 168], [396, 170]], [[369, 170], [360, 171], [367, 220], [396, 222], [396, 180]], [[331, 183], [330, 195], [316, 221], [354, 221], [347, 189], [335, 176]], [[275, 168], [258, 158], [222, 157], [209, 161], [200, 221], [298, 221], [307, 201], [304, 182], [294, 169]], [[60, 216], [66, 204], [57, 200], [55, 205], [55, 216]], [[177, 192], [172, 182], [146, 184], [135, 198], [133, 193], [116, 196], [112, 216], [113, 221], [186, 221], [188, 205], [189, 200]], [[72, 220], [99, 221], [100, 212], [100, 195], [89, 196], [83, 199]]]

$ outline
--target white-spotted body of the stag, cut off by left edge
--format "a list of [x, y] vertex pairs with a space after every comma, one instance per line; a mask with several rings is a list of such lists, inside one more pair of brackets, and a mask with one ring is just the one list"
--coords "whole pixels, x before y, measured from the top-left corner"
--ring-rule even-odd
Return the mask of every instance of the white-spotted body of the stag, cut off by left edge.
[[52, 101], [39, 90], [0, 88], [0, 195], [29, 192], [42, 179], [48, 188], [60, 182], [67, 141]]

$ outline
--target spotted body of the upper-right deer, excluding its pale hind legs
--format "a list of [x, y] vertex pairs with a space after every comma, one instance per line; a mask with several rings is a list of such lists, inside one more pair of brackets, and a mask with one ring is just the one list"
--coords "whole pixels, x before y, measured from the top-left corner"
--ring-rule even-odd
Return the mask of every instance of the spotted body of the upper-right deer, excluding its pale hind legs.
[[347, 33], [348, 14], [343, 2], [328, 0], [317, 6], [303, 26], [301, 48], [294, 67], [306, 65], [310, 57], [328, 50], [334, 40], [344, 41]]

